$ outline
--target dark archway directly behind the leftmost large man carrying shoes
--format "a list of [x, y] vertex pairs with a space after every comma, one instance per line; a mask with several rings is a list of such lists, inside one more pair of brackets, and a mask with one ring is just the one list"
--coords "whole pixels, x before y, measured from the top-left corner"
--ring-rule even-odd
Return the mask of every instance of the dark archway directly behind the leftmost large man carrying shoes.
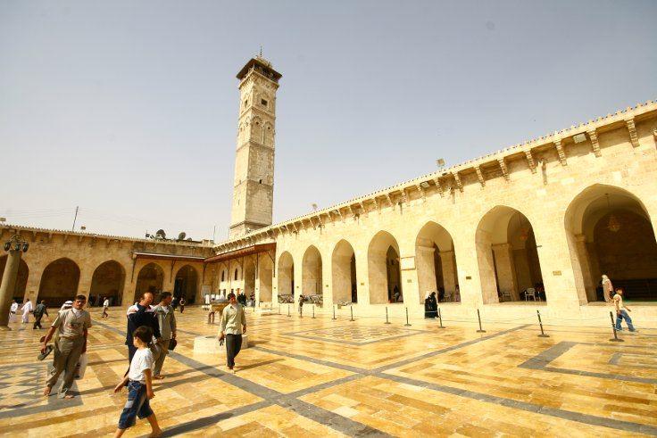
[[71, 259], [51, 262], [41, 275], [37, 300], [46, 300], [48, 307], [60, 307], [78, 294], [79, 268]]

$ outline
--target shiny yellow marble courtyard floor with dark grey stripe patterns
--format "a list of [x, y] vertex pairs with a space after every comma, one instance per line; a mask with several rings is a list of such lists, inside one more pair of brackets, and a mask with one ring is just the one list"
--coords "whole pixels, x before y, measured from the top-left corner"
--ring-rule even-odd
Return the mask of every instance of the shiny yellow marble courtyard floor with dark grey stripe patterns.
[[[112, 394], [127, 362], [125, 313], [92, 311], [89, 365], [71, 401], [39, 395], [45, 331], [0, 332], [0, 434], [112, 434], [125, 393]], [[248, 313], [252, 348], [228, 373], [195, 353], [212, 335], [204, 312], [179, 321], [179, 347], [155, 383], [152, 407], [167, 435], [199, 436], [623, 436], [657, 435], [657, 329], [472, 326], [433, 320], [384, 325]], [[49, 358], [50, 359], [50, 358]], [[144, 421], [126, 436], [144, 436]]]

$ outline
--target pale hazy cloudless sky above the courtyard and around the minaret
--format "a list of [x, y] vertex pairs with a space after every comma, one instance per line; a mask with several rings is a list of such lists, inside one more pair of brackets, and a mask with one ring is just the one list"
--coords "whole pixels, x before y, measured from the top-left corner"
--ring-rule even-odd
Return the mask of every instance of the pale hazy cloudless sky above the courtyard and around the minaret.
[[657, 98], [656, 23], [655, 1], [0, 0], [0, 216], [223, 240], [260, 45], [280, 221]]

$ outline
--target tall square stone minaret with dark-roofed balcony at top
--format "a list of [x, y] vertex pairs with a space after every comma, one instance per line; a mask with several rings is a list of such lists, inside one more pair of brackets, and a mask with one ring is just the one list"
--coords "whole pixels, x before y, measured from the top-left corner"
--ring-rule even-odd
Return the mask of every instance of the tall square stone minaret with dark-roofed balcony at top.
[[271, 225], [276, 90], [281, 76], [262, 56], [246, 62], [237, 73], [240, 103], [231, 238]]

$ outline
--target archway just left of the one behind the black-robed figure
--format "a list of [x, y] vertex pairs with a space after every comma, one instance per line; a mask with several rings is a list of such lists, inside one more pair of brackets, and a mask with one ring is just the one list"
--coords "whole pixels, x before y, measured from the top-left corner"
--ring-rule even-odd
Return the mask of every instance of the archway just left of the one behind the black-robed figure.
[[390, 233], [379, 231], [368, 248], [370, 304], [403, 302], [399, 245]]

